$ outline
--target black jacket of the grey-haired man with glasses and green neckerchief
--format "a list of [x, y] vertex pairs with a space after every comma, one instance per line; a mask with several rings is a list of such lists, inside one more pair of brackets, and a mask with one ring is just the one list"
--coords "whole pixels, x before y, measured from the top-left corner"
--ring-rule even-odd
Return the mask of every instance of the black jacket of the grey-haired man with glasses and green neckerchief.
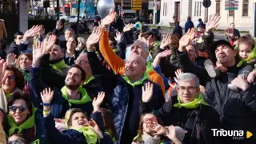
[[[177, 95], [171, 97], [171, 101], [164, 103], [158, 111], [165, 126], [186, 127], [187, 133], [183, 139], [186, 144], [219, 144], [219, 138], [214, 137], [211, 130], [218, 129], [220, 122], [218, 112], [213, 107], [200, 104], [194, 109], [178, 108], [174, 107], [174, 103], [178, 103]], [[140, 103], [142, 112], [150, 111], [149, 107], [148, 103]]]

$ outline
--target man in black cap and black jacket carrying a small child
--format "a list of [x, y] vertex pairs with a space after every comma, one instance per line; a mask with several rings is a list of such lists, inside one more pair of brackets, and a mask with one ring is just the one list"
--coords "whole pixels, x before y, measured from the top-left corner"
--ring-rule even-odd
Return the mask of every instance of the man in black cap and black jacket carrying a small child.
[[[210, 21], [206, 24], [205, 34], [210, 33], [211, 29], [218, 26], [219, 19], [218, 15], [215, 15], [214, 18], [210, 17]], [[242, 130], [244, 133], [242, 140], [233, 137], [221, 137], [219, 143], [256, 143], [254, 135], [245, 138], [246, 131], [256, 134], [256, 87], [255, 83], [248, 84], [246, 80], [238, 76], [241, 67], [237, 67], [238, 61], [235, 58], [237, 52], [227, 41], [215, 41], [210, 45], [210, 49], [215, 53], [219, 63], [227, 68], [226, 72], [222, 72], [220, 76], [211, 79], [206, 69], [195, 66], [189, 60], [186, 45], [190, 44], [193, 37], [194, 31], [190, 32], [189, 30], [179, 42], [177, 57], [180, 68], [183, 72], [194, 73], [198, 76], [200, 84], [206, 86], [205, 100], [220, 114], [220, 128], [229, 131]], [[235, 84], [242, 91], [230, 90], [227, 88], [228, 84]]]

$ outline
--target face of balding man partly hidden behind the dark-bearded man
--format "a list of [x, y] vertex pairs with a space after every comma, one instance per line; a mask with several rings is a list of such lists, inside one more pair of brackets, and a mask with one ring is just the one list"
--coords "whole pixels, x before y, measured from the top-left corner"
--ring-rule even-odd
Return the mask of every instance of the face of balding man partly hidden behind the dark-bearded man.
[[78, 64], [86, 71], [86, 78], [92, 75], [87, 55], [78, 56], [78, 59], [75, 60], [75, 64]]

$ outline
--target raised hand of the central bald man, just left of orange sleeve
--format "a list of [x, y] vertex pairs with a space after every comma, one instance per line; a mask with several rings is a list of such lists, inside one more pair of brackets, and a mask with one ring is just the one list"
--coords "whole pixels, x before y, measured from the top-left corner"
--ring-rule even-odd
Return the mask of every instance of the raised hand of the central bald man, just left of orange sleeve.
[[92, 46], [98, 44], [98, 41], [101, 39], [102, 36], [102, 29], [99, 26], [94, 26], [93, 33], [90, 34], [86, 41], [86, 47], [88, 52], [94, 51]]

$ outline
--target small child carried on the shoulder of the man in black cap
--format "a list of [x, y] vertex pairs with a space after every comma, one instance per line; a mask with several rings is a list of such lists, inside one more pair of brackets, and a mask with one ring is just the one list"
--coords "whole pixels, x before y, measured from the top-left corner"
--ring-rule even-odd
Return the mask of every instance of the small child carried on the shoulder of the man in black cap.
[[[238, 56], [240, 58], [237, 67], [243, 67], [238, 72], [238, 76], [246, 79], [249, 83], [254, 82], [254, 76], [256, 76], [256, 65], [254, 65], [256, 63], [255, 41], [256, 39], [251, 37], [249, 34], [246, 36], [242, 36], [239, 38], [238, 45], [235, 48], [235, 50], [238, 51]], [[206, 60], [205, 62], [206, 71], [212, 78], [218, 77], [220, 75], [220, 72], [227, 71], [227, 68], [225, 68], [218, 61], [216, 65], [217, 68], [214, 68], [210, 60]], [[239, 88], [234, 84], [228, 84], [228, 88], [237, 92], [239, 91]]]

